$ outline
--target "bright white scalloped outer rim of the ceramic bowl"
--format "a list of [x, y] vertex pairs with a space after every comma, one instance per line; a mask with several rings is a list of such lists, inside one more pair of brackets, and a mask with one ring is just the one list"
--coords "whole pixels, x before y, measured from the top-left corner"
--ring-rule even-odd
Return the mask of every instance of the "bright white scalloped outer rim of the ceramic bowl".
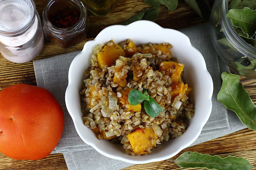
[[[203, 70], [204, 70], [204, 77], [205, 79], [207, 79], [208, 81], [208, 85], [210, 86], [209, 87], [209, 90], [208, 90], [208, 94], [206, 94], [206, 96], [208, 96], [208, 109], [207, 109], [207, 114], [205, 115], [204, 119], [202, 122], [198, 123], [198, 127], [193, 127], [193, 128], [197, 128], [198, 129], [198, 132], [196, 133], [196, 135], [193, 137], [193, 139], [189, 140], [186, 144], [180, 146], [179, 148], [176, 149], [175, 152], [173, 153], [170, 153], [169, 155], [166, 155], [166, 156], [156, 156], [154, 158], [151, 158], [151, 159], [148, 159], [148, 160], [137, 160], [137, 156], [130, 156], [130, 158], [124, 158], [122, 156], [117, 156], [117, 155], [111, 155], [105, 151], [102, 151], [101, 149], [99, 149], [98, 146], [95, 145], [94, 142], [89, 142], [85, 136], [82, 135], [82, 132], [81, 132], [81, 128], [80, 128], [80, 125], [78, 125], [77, 123], [77, 119], [81, 119], [81, 117], [78, 116], [78, 118], [75, 116], [75, 113], [72, 111], [72, 109], [70, 109], [71, 107], [71, 104], [70, 104], [70, 98], [69, 96], [71, 95], [70, 93], [70, 89], [73, 88], [73, 85], [72, 85], [72, 82], [73, 82], [73, 79], [75, 78], [75, 76], [72, 76], [72, 70], [74, 70], [74, 67], [76, 65], [76, 61], [78, 60], [79, 57], [83, 57], [83, 54], [85, 53], [86, 51], [86, 48], [88, 46], [88, 44], [90, 43], [95, 43], [95, 45], [98, 45], [96, 42], [98, 39], [100, 39], [102, 36], [104, 37], [105, 36], [105, 32], [106, 30], [109, 30], [109, 29], [112, 29], [114, 30], [115, 28], [119, 29], [120, 27], [133, 27], [135, 25], [137, 26], [141, 26], [141, 25], [145, 25], [145, 24], [148, 24], [150, 26], [154, 26], [155, 28], [158, 27], [159, 30], [170, 30], [170, 31], [173, 31], [175, 34], [178, 34], [179, 36], [183, 36], [183, 38], [185, 37], [185, 39], [187, 40], [186, 43], [188, 43], [188, 46], [187, 47], [190, 47], [191, 49], [195, 50], [197, 52], [197, 55], [200, 57], [201, 59], [201, 62], [203, 65], [201, 65], [203, 67]], [[128, 35], [124, 36], [126, 38], [129, 38]], [[125, 39], [126, 39], [125, 38]], [[106, 40], [106, 42], [109, 41], [109, 40]], [[185, 44], [185, 43], [184, 43]], [[92, 49], [89, 49], [90, 51], [90, 54], [91, 54], [91, 51]], [[186, 65], [185, 65], [186, 67]], [[82, 82], [81, 82], [82, 83]], [[177, 31], [177, 30], [174, 30], [174, 29], [168, 29], [168, 28], [162, 28], [160, 27], [158, 24], [154, 23], [154, 22], [151, 22], [151, 21], [144, 21], [144, 20], [141, 20], [141, 21], [136, 21], [136, 22], [133, 22], [127, 26], [123, 26], [123, 25], [113, 25], [113, 26], [109, 26], [105, 29], [103, 29], [97, 36], [94, 40], [90, 40], [90, 41], [87, 41], [83, 47], [83, 50], [73, 59], [72, 63], [70, 64], [70, 67], [69, 67], [69, 71], [68, 71], [68, 86], [67, 86], [67, 89], [66, 89], [66, 94], [65, 94], [65, 101], [66, 101], [66, 106], [67, 106], [67, 110], [70, 114], [70, 116], [72, 117], [73, 119], [73, 122], [74, 122], [74, 125], [75, 125], [75, 129], [77, 131], [77, 133], [79, 134], [79, 136], [81, 137], [81, 139], [88, 145], [92, 146], [96, 151], [98, 151], [100, 154], [104, 155], [104, 156], [107, 156], [109, 158], [113, 158], [113, 159], [116, 159], [116, 160], [121, 160], [121, 161], [124, 161], [124, 162], [128, 162], [128, 163], [134, 163], [134, 164], [144, 164], [144, 163], [150, 163], [150, 162], [156, 162], [156, 161], [163, 161], [163, 160], [166, 160], [170, 157], [173, 157], [175, 155], [177, 155], [181, 150], [189, 147], [197, 138], [198, 136], [200, 135], [201, 131], [202, 131], [202, 128], [203, 126], [206, 124], [206, 122], [208, 121], [209, 119], [209, 116], [210, 116], [210, 113], [211, 113], [211, 109], [212, 109], [212, 102], [211, 102], [211, 97], [213, 95], [213, 80], [211, 79], [211, 76], [210, 76], [210, 73], [207, 71], [207, 68], [206, 68], [206, 63], [204, 61], [204, 58], [202, 56], [202, 54], [200, 53], [200, 51], [198, 51], [191, 43], [190, 43], [190, 40], [189, 40], [189, 37], [183, 33], [181, 33], [180, 31]], [[193, 119], [193, 118], [192, 118]], [[80, 120], [79, 120], [80, 121]], [[191, 128], [191, 127], [190, 127]], [[169, 142], [169, 141], [168, 141]], [[154, 152], [154, 150], [153, 150]], [[150, 153], [150, 154], [153, 154]], [[125, 153], [123, 153], [125, 154]], [[125, 154], [127, 155], [127, 154]], [[143, 155], [144, 156], [144, 155]]]

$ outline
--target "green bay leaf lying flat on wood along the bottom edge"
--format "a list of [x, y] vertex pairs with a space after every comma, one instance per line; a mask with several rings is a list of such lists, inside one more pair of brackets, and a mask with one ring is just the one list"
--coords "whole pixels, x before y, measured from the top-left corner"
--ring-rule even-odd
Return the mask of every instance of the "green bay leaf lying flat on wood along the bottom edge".
[[197, 152], [184, 152], [177, 157], [174, 162], [181, 168], [207, 168], [215, 170], [250, 170], [254, 168], [252, 164], [244, 158], [235, 156], [221, 158], [217, 155], [210, 156]]

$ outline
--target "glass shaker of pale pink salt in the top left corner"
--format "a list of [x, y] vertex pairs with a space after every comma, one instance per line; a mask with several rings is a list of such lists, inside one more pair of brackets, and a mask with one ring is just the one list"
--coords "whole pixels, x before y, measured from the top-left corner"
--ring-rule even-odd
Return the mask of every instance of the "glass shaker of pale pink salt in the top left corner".
[[0, 52], [14, 63], [26, 63], [43, 49], [41, 20], [33, 0], [0, 1]]

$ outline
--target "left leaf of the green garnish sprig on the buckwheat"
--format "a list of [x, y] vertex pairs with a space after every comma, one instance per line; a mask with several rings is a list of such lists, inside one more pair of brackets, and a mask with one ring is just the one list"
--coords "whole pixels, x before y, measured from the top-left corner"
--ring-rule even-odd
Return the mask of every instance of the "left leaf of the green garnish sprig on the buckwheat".
[[139, 90], [131, 90], [128, 95], [129, 104], [135, 106], [140, 104], [143, 100], [149, 100], [149, 96], [145, 96]]

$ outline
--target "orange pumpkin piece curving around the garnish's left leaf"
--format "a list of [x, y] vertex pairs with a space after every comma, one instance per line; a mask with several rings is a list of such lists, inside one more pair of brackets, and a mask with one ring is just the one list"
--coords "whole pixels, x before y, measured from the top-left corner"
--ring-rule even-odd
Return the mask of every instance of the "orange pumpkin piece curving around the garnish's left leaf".
[[125, 90], [122, 90], [122, 96], [120, 97], [120, 102], [123, 104], [124, 107], [127, 108], [127, 111], [134, 111], [134, 112], [140, 112], [141, 111], [141, 104], [137, 104], [135, 106], [132, 106], [129, 104], [129, 101], [128, 101], [128, 95], [130, 93], [130, 91], [132, 90], [133, 88], [127, 88]]

